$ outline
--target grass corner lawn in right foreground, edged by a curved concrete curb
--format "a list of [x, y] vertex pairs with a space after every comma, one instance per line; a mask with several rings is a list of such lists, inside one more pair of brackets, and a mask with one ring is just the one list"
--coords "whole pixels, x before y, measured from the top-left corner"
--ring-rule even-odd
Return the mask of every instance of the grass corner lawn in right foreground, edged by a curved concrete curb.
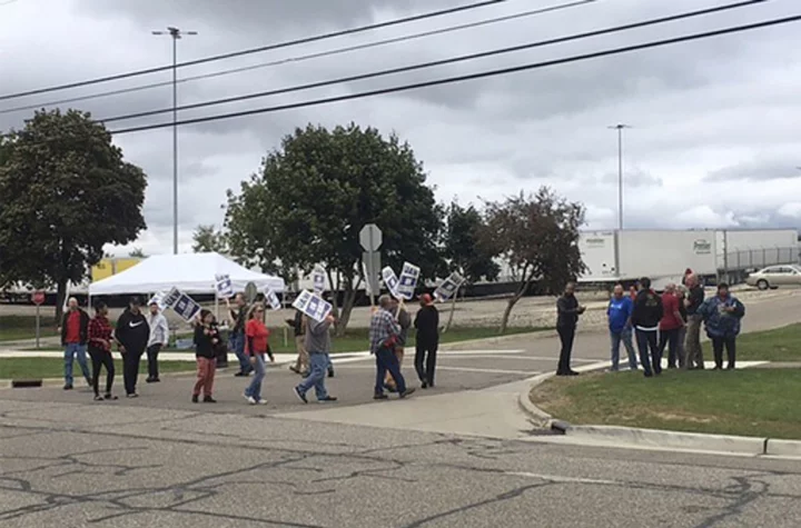
[[552, 378], [532, 401], [570, 424], [801, 439], [801, 369]]

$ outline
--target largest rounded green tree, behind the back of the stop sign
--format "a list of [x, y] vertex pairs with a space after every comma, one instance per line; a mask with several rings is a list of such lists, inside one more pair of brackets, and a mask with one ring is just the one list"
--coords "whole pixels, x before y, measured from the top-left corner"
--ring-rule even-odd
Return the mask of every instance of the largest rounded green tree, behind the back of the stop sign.
[[425, 185], [423, 165], [396, 136], [356, 124], [327, 130], [308, 126], [284, 138], [259, 173], [228, 192], [226, 229], [231, 252], [249, 265], [291, 280], [319, 263], [333, 285], [337, 331], [350, 318], [364, 281], [358, 235], [365, 223], [384, 233], [384, 266], [404, 260], [423, 278], [443, 271], [437, 250], [443, 210]]

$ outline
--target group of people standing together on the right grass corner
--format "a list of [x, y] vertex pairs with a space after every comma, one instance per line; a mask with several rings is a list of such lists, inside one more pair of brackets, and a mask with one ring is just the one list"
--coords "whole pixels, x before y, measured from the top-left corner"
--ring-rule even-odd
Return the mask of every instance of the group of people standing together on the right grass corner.
[[[575, 285], [568, 283], [556, 302], [562, 349], [557, 376], [577, 376], [570, 367], [573, 340], [578, 318], [586, 308], [575, 297]], [[614, 287], [606, 307], [612, 345], [611, 370], [620, 370], [621, 345], [625, 348], [629, 369], [642, 366], [646, 378], [662, 373], [662, 358], [668, 348], [668, 368], [695, 370], [704, 368], [701, 346], [701, 327], [712, 342], [714, 369], [722, 370], [723, 351], [726, 369], [736, 366], [736, 337], [745, 316], [745, 307], [729, 290], [725, 282], [718, 283], [716, 295], [705, 298], [699, 277], [686, 270], [682, 285], [668, 285], [661, 295], [643, 277], [626, 295], [622, 285]], [[639, 351], [634, 352], [634, 343]]]

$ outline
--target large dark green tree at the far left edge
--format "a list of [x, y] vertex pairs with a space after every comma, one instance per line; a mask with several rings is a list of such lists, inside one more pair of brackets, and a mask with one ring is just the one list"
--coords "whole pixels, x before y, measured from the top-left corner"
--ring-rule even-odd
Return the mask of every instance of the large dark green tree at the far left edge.
[[107, 243], [145, 229], [146, 177], [88, 113], [38, 111], [4, 141], [0, 165], [0, 275], [56, 286], [79, 282]]

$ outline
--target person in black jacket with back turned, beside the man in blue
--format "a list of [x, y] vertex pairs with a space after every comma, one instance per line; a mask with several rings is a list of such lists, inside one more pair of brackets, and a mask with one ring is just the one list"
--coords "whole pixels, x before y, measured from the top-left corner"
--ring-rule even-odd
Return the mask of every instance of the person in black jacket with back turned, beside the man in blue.
[[651, 289], [651, 279], [643, 277], [640, 279], [640, 288], [634, 301], [632, 325], [634, 326], [637, 349], [640, 350], [640, 362], [646, 378], [651, 378], [654, 373], [656, 376], [662, 373], [662, 356], [657, 342], [659, 325], [662, 316], [662, 299]]

